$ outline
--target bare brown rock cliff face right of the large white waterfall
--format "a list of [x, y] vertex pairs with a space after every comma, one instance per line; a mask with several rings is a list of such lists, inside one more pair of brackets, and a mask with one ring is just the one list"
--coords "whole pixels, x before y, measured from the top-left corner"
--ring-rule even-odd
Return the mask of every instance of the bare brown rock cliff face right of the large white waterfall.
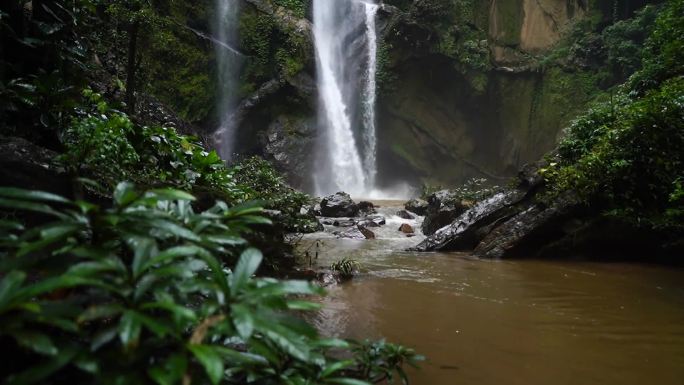
[[[415, 47], [389, 64], [398, 81], [380, 99], [381, 174], [399, 163], [428, 183], [510, 177], [549, 151], [596, 92], [577, 73], [544, 70], [536, 60], [590, 12], [583, 1], [493, 0], [475, 11], [472, 22], [486, 31], [485, 69], [459, 68], [439, 50], [415, 54]], [[406, 35], [416, 27], [399, 21], [394, 28]], [[405, 45], [389, 39], [394, 50]]]

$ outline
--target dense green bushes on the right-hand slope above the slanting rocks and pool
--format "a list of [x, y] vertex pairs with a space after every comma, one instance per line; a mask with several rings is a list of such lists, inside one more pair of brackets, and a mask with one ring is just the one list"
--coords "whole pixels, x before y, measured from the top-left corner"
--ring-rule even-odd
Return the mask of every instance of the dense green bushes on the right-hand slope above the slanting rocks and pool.
[[571, 190], [610, 215], [681, 227], [684, 78], [671, 42], [684, 34], [682, 11], [680, 0], [665, 5], [642, 70], [570, 126], [557, 158], [541, 170], [553, 195]]

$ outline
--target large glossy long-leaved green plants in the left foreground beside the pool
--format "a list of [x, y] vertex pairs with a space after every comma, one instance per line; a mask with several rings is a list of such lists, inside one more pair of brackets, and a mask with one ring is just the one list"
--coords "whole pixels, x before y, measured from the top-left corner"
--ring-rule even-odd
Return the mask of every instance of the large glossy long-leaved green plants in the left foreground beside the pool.
[[[192, 209], [178, 190], [121, 183], [111, 208], [0, 188], [0, 351], [8, 384], [367, 384], [417, 357], [396, 345], [320, 338], [303, 281], [253, 278], [242, 234], [254, 207]], [[351, 359], [334, 358], [349, 351]], [[337, 357], [337, 355], [335, 356]]]

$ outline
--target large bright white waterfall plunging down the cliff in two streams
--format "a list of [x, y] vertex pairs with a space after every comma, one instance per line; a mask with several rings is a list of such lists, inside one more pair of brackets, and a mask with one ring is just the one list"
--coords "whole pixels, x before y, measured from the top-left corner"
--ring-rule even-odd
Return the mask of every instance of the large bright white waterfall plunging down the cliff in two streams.
[[359, 0], [314, 0], [321, 133], [314, 179], [319, 195], [344, 190], [364, 196], [374, 187], [377, 9]]

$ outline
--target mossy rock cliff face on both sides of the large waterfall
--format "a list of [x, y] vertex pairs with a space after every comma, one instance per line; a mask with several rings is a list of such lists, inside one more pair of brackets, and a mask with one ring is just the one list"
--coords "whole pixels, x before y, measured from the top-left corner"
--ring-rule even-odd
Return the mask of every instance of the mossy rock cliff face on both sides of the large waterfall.
[[[618, 17], [644, 2], [618, 1]], [[311, 1], [296, 9], [283, 5], [290, 3], [243, 1], [240, 50], [248, 60], [238, 140], [241, 152], [266, 156], [307, 189], [318, 110]], [[603, 2], [384, 3], [378, 21], [381, 184], [503, 180], [552, 149], [562, 128], [601, 92], [597, 71], [545, 63], [577, 23], [613, 16], [615, 9]]]

